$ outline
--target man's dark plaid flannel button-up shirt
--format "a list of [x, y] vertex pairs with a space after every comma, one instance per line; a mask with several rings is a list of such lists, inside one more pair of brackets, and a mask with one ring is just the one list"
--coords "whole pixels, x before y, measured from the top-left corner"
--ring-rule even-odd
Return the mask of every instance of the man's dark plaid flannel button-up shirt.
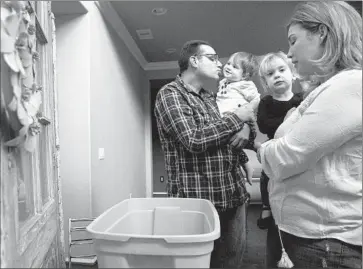
[[[197, 94], [178, 76], [160, 89], [154, 112], [169, 196], [208, 199], [219, 211], [248, 200], [240, 153], [229, 146], [243, 122], [233, 113], [222, 118], [214, 94]], [[251, 128], [250, 148], [255, 137]]]

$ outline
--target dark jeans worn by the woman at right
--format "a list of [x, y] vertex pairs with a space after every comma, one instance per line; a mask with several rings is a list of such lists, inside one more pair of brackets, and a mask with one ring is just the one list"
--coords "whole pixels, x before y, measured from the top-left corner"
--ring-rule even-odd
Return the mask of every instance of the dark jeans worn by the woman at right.
[[[307, 239], [281, 231], [294, 268], [362, 268], [362, 246], [337, 239]], [[281, 244], [276, 226], [267, 232], [266, 267], [277, 268]]]

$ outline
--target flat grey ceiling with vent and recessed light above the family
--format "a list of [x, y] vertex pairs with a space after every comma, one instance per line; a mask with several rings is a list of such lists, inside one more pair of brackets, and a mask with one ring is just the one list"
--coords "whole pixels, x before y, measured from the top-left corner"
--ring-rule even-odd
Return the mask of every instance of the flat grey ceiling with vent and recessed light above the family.
[[[210, 42], [221, 58], [237, 51], [287, 52], [286, 24], [298, 1], [110, 1], [134, 49], [146, 63], [177, 61], [187, 40]], [[354, 4], [354, 3], [353, 3]], [[362, 10], [362, 2], [355, 6]], [[165, 15], [152, 13], [166, 8]], [[136, 30], [150, 29], [140, 40]], [[174, 48], [176, 52], [167, 53]], [[139, 57], [139, 58], [140, 58]]]

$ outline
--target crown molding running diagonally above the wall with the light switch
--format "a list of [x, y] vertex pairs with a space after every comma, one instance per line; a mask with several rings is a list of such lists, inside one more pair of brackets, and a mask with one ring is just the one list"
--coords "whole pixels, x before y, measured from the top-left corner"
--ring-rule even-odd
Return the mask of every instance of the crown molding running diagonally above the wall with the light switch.
[[109, 1], [96, 1], [96, 6], [99, 8], [104, 18], [110, 23], [112, 28], [116, 31], [117, 35], [124, 41], [126, 47], [129, 49], [131, 54], [139, 62], [141, 67], [145, 69], [148, 64], [144, 55], [140, 51], [139, 47], [135, 43], [134, 39], [127, 30], [125, 24], [122, 22], [120, 16], [117, 14], [115, 9], [112, 7]]

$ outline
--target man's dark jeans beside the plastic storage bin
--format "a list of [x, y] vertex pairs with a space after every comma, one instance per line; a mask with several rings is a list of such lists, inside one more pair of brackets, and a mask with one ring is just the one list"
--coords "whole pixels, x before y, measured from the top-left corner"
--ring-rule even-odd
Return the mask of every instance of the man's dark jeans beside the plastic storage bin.
[[241, 268], [247, 241], [247, 206], [218, 213], [221, 237], [214, 241], [210, 268]]

